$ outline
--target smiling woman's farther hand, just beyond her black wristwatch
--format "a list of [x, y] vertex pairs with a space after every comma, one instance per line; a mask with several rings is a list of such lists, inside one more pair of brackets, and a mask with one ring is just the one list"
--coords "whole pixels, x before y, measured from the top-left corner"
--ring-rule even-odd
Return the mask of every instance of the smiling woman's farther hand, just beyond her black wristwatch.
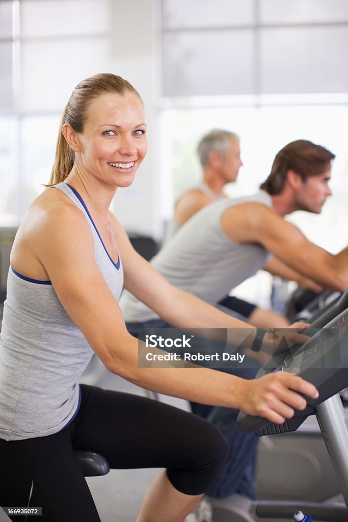
[[294, 345], [303, 345], [309, 336], [301, 330], [307, 328], [308, 323], [293, 323], [288, 328], [272, 328], [263, 338], [261, 350], [269, 355], [288, 350]]

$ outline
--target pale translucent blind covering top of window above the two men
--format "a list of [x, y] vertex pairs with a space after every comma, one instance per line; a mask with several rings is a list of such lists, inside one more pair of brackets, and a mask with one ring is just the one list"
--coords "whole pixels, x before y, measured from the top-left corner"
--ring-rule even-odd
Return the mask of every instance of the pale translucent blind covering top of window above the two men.
[[346, 0], [163, 0], [163, 96], [345, 92]]

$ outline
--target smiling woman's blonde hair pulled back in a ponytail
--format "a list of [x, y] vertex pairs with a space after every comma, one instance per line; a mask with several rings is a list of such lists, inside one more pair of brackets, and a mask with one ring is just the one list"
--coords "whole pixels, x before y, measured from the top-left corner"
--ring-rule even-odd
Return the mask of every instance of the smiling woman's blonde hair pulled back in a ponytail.
[[139, 100], [142, 102], [138, 91], [127, 80], [111, 73], [90, 76], [75, 87], [63, 111], [59, 125], [55, 159], [50, 181], [46, 185], [47, 187], [64, 181], [74, 165], [75, 152], [69, 147], [64, 138], [63, 125], [68, 123], [75, 132], [83, 132], [86, 123], [87, 109], [93, 98], [106, 92], [115, 92], [124, 95], [127, 91], [137, 94]]

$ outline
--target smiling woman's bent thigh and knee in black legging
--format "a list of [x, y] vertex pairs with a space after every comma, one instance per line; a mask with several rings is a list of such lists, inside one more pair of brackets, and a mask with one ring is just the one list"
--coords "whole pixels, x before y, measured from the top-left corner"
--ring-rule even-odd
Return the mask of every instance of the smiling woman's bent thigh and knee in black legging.
[[219, 473], [226, 441], [210, 423], [146, 397], [81, 390], [75, 449], [101, 453], [111, 468], [167, 468], [173, 485], [188, 494], [203, 493]]

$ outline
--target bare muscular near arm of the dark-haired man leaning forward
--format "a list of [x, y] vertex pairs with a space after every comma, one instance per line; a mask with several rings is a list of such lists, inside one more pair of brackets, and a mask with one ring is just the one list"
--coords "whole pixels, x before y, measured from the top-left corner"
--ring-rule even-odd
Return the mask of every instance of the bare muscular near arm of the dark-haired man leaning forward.
[[337, 255], [330, 254], [266, 205], [232, 207], [223, 213], [221, 223], [232, 241], [261, 244], [285, 265], [324, 288], [343, 292], [348, 286], [348, 247]]

